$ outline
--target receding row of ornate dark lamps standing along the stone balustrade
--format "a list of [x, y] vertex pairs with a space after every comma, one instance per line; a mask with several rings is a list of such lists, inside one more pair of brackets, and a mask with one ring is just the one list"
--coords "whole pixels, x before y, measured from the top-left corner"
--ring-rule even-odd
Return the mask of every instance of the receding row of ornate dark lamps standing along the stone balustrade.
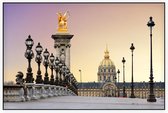
[[[28, 68], [27, 68], [27, 75], [26, 75], [26, 83], [33, 83], [33, 73], [31, 68], [31, 59], [34, 58], [34, 53], [32, 50], [32, 47], [34, 45], [34, 42], [29, 35], [28, 38], [25, 41], [25, 44], [27, 46], [25, 57], [28, 59]], [[35, 61], [38, 64], [38, 70], [37, 70], [37, 76], [36, 76], [36, 84], [50, 84], [50, 85], [57, 85], [57, 86], [63, 86], [67, 87], [68, 89], [72, 90], [74, 93], [77, 94], [77, 86], [78, 83], [74, 77], [74, 75], [70, 72], [68, 67], [65, 65], [64, 62], [62, 62], [58, 57], [54, 57], [53, 53], [49, 53], [47, 49], [43, 52], [43, 47], [38, 43], [38, 45], [35, 48], [36, 51], [36, 58]], [[42, 57], [43, 52], [43, 57]], [[43, 61], [43, 65], [45, 67], [45, 74], [44, 79], [41, 75], [40, 70], [40, 64]], [[51, 77], [49, 80], [48, 76], [48, 67], [51, 69]], [[55, 78], [53, 70], [55, 70]]]

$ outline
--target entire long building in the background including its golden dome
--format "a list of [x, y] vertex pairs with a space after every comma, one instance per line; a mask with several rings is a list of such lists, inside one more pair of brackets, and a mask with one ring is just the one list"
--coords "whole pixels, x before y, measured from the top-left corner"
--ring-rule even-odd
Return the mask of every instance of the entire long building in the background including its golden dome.
[[[110, 59], [109, 51], [106, 48], [104, 59], [98, 67], [98, 82], [83, 82], [78, 85], [78, 96], [98, 97], [122, 97], [123, 83], [116, 81], [116, 68]], [[131, 95], [131, 83], [125, 83], [127, 97]], [[157, 98], [165, 97], [165, 83], [155, 82], [154, 93]], [[149, 95], [148, 82], [134, 82], [134, 95], [136, 98], [147, 98]]]

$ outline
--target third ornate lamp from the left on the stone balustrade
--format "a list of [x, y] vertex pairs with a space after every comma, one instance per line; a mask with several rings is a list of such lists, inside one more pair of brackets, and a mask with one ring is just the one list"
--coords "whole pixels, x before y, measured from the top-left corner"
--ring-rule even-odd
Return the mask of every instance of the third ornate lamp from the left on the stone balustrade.
[[43, 56], [44, 56], [44, 62], [43, 62], [43, 65], [45, 66], [45, 77], [44, 77], [44, 84], [49, 84], [49, 77], [48, 77], [48, 72], [47, 72], [47, 68], [48, 68], [48, 65], [49, 65], [49, 60], [48, 60], [48, 57], [49, 57], [50, 53], [47, 51], [47, 49], [45, 49], [45, 51], [43, 52]]

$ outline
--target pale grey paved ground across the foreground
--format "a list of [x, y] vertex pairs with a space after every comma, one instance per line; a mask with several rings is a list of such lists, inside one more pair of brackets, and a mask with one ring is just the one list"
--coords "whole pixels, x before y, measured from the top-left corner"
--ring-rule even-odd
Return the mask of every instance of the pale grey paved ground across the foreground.
[[5, 102], [4, 109], [164, 109], [164, 99], [62, 96], [27, 102]]

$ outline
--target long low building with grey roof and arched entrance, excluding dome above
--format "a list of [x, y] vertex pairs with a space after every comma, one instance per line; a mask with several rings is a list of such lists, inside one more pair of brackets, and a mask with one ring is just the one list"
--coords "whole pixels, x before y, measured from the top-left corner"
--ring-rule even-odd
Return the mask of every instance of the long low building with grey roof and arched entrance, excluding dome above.
[[[78, 96], [98, 96], [98, 97], [122, 97], [123, 83], [117, 83], [117, 88], [112, 83], [87, 82], [79, 83]], [[125, 92], [127, 97], [131, 95], [131, 83], [125, 83]], [[165, 97], [164, 82], [155, 82], [154, 94], [156, 98]], [[149, 95], [148, 82], [135, 82], [134, 95], [136, 98], [147, 98]]]

